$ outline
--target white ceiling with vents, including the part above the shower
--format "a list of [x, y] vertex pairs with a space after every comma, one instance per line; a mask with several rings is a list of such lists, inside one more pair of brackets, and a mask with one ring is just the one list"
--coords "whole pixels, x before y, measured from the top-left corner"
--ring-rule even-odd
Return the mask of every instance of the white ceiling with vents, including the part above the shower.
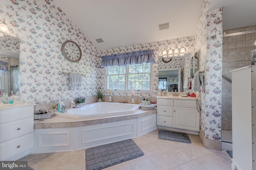
[[[247, 4], [247, 1], [250, 3]], [[56, 6], [100, 50], [194, 36], [202, 2], [203, 0], [54, 0]], [[223, 25], [227, 30], [256, 25], [256, 10], [252, 10], [253, 18], [242, 18], [245, 13], [249, 13], [248, 9], [256, 8], [255, 3], [256, 0], [212, 0], [210, 8], [224, 6]], [[232, 21], [234, 14], [238, 14], [241, 19]], [[244, 25], [245, 21], [249, 25]], [[159, 30], [159, 24], [168, 22], [169, 29]], [[97, 43], [98, 38], [102, 38], [104, 42]]]

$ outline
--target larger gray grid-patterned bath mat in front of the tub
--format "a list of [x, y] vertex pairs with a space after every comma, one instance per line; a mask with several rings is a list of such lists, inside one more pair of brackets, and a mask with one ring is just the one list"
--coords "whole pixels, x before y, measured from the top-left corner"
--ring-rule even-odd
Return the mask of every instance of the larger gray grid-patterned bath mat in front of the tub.
[[96, 146], [85, 151], [86, 170], [100, 170], [143, 155], [132, 139]]

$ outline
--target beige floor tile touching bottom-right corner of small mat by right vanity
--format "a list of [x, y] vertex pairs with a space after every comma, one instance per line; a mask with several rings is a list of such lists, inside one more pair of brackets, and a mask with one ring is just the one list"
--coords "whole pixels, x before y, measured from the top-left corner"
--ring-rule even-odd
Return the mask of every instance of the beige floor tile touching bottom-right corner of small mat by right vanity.
[[200, 148], [198, 148], [196, 144], [190, 144], [184, 147], [180, 147], [178, 149], [193, 160], [206, 155], [204, 152], [202, 152], [202, 150], [200, 150]]

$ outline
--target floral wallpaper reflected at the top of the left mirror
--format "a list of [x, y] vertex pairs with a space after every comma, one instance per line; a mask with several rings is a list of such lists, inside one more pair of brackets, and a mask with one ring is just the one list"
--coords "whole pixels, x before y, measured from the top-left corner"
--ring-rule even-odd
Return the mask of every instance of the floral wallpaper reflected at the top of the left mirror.
[[0, 37], [0, 50], [20, 53], [20, 39], [12, 36]]

